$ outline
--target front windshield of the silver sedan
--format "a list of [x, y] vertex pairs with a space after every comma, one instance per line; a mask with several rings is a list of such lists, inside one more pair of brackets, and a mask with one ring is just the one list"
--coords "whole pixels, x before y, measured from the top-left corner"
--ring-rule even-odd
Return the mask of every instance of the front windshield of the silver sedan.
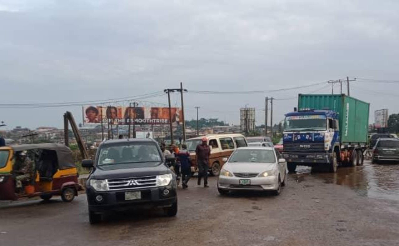
[[236, 150], [229, 159], [231, 162], [275, 163], [276, 158], [273, 150]]

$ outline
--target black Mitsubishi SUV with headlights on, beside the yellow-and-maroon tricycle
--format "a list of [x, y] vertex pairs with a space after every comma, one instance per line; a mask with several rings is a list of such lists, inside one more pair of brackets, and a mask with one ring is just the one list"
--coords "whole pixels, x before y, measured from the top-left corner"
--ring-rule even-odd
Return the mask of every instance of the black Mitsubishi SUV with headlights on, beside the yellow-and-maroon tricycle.
[[154, 140], [105, 141], [82, 166], [93, 167], [86, 183], [91, 224], [107, 211], [163, 208], [166, 216], [176, 215], [176, 176]]

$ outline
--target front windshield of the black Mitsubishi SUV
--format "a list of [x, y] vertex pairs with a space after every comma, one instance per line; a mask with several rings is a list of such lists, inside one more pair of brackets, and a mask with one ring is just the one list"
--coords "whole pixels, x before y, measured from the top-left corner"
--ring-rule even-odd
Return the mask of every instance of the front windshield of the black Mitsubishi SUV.
[[158, 146], [153, 142], [124, 142], [101, 147], [98, 166], [128, 163], [158, 165], [162, 160]]

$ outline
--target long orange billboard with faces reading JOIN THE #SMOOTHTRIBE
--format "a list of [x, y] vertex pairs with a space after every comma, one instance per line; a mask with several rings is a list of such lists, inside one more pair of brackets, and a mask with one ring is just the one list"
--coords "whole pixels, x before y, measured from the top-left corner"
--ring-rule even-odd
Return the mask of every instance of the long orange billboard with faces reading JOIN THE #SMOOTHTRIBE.
[[[181, 108], [170, 108], [172, 124], [180, 124]], [[85, 106], [83, 107], [85, 124], [114, 125], [163, 125], [169, 124], [168, 107], [122, 107], [122, 106]]]

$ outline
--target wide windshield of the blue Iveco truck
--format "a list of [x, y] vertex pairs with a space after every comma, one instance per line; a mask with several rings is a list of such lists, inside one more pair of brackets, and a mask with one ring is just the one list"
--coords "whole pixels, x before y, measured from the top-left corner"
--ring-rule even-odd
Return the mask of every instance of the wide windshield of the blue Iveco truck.
[[326, 130], [325, 115], [298, 115], [285, 118], [284, 130]]

